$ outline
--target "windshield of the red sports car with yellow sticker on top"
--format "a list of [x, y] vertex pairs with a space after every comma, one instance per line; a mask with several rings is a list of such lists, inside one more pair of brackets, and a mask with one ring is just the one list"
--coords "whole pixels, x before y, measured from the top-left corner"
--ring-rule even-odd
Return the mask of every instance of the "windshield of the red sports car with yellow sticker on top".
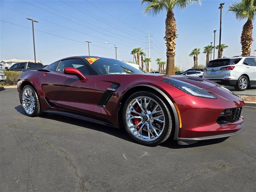
[[[132, 74], [143, 73], [133, 66], [115, 59], [84, 58], [99, 74]], [[93, 60], [93, 62], [92, 62]]]

